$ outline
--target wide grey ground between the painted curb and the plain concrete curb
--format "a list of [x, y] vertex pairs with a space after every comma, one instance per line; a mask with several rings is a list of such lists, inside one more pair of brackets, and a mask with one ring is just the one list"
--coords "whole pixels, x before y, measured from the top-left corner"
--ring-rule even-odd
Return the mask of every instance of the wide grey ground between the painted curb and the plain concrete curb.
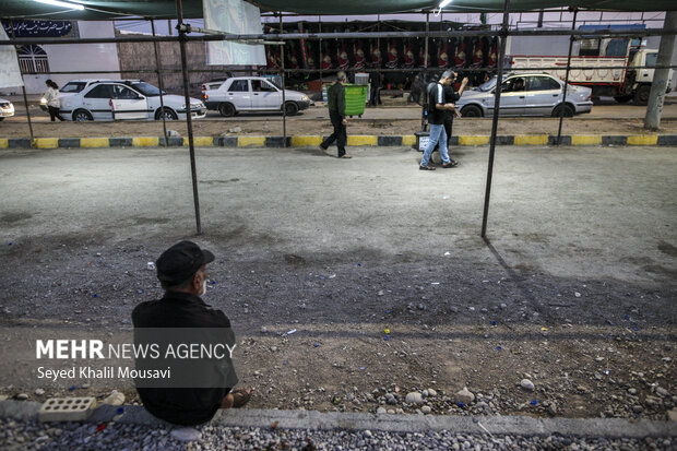
[[442, 415], [674, 413], [674, 150], [499, 147], [488, 242], [487, 147], [435, 173], [352, 152], [199, 149], [200, 237], [186, 150], [0, 152], [0, 391], [69, 393], [35, 380], [31, 340], [128, 330], [159, 295], [146, 262], [191, 238], [218, 256], [207, 299], [237, 324], [251, 407], [415, 413], [404, 395], [435, 387]]

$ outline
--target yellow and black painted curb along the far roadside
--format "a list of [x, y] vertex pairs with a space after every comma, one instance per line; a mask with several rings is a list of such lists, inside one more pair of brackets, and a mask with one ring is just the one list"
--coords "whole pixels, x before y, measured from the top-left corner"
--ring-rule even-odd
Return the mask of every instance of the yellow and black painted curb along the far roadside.
[[[320, 135], [294, 135], [286, 138], [287, 147], [318, 146]], [[516, 134], [497, 137], [498, 145], [554, 145], [557, 137], [553, 134]], [[284, 137], [195, 137], [199, 147], [284, 147]], [[452, 137], [451, 145], [487, 145], [488, 135]], [[187, 146], [188, 138], [167, 138], [171, 147]], [[377, 137], [367, 134], [348, 135], [349, 146], [416, 146], [415, 134]], [[677, 134], [567, 134], [561, 137], [563, 145], [658, 145], [677, 146]], [[0, 149], [92, 149], [92, 147], [158, 147], [164, 145], [162, 137], [133, 138], [2, 138]]]

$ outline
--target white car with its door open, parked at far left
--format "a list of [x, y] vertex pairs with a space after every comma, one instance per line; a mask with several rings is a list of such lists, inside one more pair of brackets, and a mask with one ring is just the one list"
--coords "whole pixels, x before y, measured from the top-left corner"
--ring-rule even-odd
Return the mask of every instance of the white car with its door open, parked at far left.
[[[163, 115], [165, 119], [186, 119], [183, 96], [163, 93], [165, 105], [163, 109], [159, 90], [142, 80], [84, 82], [85, 86], [80, 92], [60, 93], [63, 119], [74, 121], [161, 119]], [[71, 85], [70, 83], [67, 83], [64, 87]], [[192, 118], [206, 116], [204, 104], [197, 98], [190, 99], [190, 109]]]

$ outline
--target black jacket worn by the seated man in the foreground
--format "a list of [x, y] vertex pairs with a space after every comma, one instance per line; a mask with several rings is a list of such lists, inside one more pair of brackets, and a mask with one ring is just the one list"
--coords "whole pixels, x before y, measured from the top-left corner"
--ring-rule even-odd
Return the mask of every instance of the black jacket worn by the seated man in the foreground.
[[[230, 321], [195, 295], [167, 292], [161, 300], [142, 302], [132, 311], [134, 328], [225, 328], [235, 344]], [[233, 375], [234, 381], [237, 377]], [[233, 383], [234, 385], [235, 383]], [[158, 418], [177, 425], [198, 425], [212, 419], [229, 387], [136, 388], [145, 408]]]

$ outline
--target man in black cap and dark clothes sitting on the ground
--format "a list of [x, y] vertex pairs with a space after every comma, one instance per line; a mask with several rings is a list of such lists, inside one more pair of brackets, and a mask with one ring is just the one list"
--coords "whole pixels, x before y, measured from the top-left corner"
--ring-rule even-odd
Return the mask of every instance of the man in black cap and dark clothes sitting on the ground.
[[[212, 252], [191, 241], [181, 241], [163, 252], [156, 269], [165, 295], [159, 300], [136, 306], [132, 312], [136, 331], [139, 328], [210, 328], [226, 332], [229, 345], [235, 347], [228, 317], [200, 298], [206, 292], [205, 265], [213, 261]], [[229, 380], [237, 381], [234, 372]], [[136, 391], [151, 414], [169, 423], [191, 426], [209, 422], [218, 408], [240, 407], [251, 396], [251, 389], [233, 390], [230, 387], [138, 387]]]

